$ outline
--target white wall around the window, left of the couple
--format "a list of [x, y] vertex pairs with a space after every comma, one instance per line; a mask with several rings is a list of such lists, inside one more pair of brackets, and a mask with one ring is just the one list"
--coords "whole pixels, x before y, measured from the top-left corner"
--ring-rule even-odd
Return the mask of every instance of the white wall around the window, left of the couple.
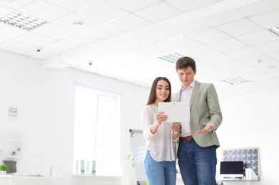
[[[38, 60], [4, 51], [0, 51], [0, 56], [0, 135], [1, 132], [24, 135], [16, 174], [72, 178], [76, 81], [122, 93], [123, 159], [131, 154], [128, 129], [141, 129], [141, 109], [146, 104], [148, 88], [72, 68], [46, 70]], [[9, 106], [18, 108], [16, 119], [7, 116]], [[128, 164], [123, 166], [122, 184], [133, 184], [134, 169]]]

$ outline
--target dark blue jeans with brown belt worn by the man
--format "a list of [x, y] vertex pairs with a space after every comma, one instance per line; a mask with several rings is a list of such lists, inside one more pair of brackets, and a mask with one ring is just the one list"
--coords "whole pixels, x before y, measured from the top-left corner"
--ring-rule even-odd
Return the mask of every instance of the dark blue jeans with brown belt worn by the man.
[[216, 146], [200, 147], [194, 139], [180, 142], [178, 165], [187, 185], [215, 185]]

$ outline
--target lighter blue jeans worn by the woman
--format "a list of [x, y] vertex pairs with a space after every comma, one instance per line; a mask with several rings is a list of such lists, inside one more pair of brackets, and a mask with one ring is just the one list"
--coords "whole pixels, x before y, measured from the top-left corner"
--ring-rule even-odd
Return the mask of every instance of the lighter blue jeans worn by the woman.
[[149, 185], [176, 185], [176, 162], [156, 162], [148, 151], [144, 169]]

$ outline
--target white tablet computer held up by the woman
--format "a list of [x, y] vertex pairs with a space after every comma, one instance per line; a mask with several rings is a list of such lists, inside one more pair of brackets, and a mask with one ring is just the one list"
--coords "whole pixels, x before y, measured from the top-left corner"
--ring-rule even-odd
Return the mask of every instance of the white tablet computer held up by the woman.
[[190, 121], [190, 105], [188, 102], [159, 102], [158, 111], [168, 115], [166, 122]]

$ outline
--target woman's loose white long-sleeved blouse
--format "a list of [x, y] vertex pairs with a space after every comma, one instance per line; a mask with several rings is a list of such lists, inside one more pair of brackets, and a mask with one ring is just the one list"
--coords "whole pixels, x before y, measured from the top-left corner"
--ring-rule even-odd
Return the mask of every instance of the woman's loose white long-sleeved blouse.
[[154, 104], [143, 107], [143, 137], [146, 139], [143, 161], [146, 159], [148, 150], [156, 162], [176, 161], [176, 147], [178, 146], [179, 137], [178, 139], [173, 139], [171, 135], [171, 122], [163, 122], [155, 134], [152, 134], [150, 131], [151, 125], [155, 122], [157, 112], [158, 107]]

